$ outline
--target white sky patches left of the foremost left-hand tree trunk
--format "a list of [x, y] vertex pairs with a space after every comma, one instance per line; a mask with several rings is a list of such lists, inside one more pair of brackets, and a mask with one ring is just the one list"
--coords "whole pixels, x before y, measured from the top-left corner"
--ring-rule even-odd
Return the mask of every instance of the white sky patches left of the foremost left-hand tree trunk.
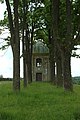
[[[0, 20], [4, 18], [4, 11], [6, 9], [5, 4], [0, 4]], [[2, 45], [2, 38], [6, 37], [6, 35], [3, 33], [0, 35], [0, 46]], [[4, 77], [12, 77], [12, 51], [9, 47], [7, 50], [2, 51], [0, 50], [0, 75], [3, 75]]]

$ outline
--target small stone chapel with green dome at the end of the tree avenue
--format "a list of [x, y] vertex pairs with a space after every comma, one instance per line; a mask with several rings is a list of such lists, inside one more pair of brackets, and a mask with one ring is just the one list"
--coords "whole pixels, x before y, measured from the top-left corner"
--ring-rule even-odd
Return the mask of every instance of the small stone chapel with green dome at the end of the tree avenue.
[[32, 53], [32, 80], [49, 81], [50, 64], [49, 48], [41, 40], [33, 45]]

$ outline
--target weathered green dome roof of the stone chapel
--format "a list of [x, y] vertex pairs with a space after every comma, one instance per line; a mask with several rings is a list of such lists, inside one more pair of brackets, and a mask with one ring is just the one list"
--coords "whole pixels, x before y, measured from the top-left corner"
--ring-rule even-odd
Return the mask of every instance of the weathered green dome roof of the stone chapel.
[[49, 53], [49, 48], [39, 40], [33, 45], [33, 53]]

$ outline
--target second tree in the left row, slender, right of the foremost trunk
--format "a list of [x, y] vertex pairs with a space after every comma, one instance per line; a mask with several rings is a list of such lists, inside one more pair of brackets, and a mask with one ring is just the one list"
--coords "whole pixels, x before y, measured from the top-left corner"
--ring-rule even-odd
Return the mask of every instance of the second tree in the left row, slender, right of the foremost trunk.
[[21, 16], [21, 24], [22, 24], [22, 52], [23, 52], [23, 78], [24, 78], [24, 87], [27, 86], [28, 83], [28, 65], [27, 65], [27, 46], [28, 46], [28, 23], [27, 23], [27, 12], [28, 12], [28, 6], [27, 1], [23, 0], [21, 7], [22, 9], [22, 16]]

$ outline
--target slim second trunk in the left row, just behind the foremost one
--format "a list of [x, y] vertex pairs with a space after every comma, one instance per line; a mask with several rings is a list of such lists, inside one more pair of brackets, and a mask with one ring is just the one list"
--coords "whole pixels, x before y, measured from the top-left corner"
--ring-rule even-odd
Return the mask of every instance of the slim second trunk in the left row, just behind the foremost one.
[[27, 47], [26, 47], [26, 41], [27, 41], [27, 1], [23, 0], [23, 33], [22, 33], [22, 47], [23, 47], [23, 78], [24, 78], [24, 87], [27, 86], [28, 83], [28, 73], [27, 73]]

